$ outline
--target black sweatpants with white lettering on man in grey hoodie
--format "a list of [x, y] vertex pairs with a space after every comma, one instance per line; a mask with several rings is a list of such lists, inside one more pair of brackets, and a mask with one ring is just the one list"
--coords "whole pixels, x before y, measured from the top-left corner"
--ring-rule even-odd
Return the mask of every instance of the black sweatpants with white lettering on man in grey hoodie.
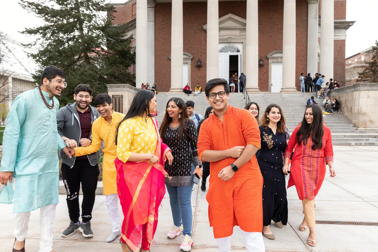
[[62, 176], [67, 191], [67, 206], [71, 221], [79, 222], [79, 190], [80, 183], [83, 191], [83, 202], [81, 204], [82, 221], [92, 219], [93, 205], [95, 204], [95, 193], [100, 170], [98, 164], [92, 166], [88, 159], [75, 160], [72, 168], [62, 163]]

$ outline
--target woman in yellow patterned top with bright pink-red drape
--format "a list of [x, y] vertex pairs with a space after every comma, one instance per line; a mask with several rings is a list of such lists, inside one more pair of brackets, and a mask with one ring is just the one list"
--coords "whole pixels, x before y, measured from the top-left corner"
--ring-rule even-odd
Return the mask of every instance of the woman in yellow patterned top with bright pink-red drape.
[[149, 251], [156, 231], [158, 207], [165, 194], [164, 161], [172, 154], [161, 143], [155, 112], [156, 97], [150, 90], [136, 93], [129, 111], [117, 128], [117, 189], [121, 201], [121, 246], [124, 252]]

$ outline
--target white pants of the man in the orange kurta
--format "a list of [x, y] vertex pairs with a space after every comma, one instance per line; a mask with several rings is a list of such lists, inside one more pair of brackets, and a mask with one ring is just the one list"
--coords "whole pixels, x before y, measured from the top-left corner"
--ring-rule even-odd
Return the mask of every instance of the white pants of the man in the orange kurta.
[[[247, 252], [265, 252], [264, 241], [261, 232], [245, 232], [243, 231], [245, 246]], [[215, 239], [218, 243], [220, 252], [231, 251], [231, 236]]]

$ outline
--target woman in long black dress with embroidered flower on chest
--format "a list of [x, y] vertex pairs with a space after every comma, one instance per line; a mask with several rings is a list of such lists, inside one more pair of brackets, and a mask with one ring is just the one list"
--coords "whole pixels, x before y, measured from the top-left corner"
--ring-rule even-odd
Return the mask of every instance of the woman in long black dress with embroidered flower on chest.
[[285, 125], [281, 108], [270, 104], [260, 121], [261, 149], [257, 156], [261, 174], [264, 178], [263, 198], [263, 235], [274, 240], [270, 230], [273, 219], [278, 228], [287, 224], [287, 199], [285, 174], [282, 172], [283, 152], [287, 146], [289, 132]]

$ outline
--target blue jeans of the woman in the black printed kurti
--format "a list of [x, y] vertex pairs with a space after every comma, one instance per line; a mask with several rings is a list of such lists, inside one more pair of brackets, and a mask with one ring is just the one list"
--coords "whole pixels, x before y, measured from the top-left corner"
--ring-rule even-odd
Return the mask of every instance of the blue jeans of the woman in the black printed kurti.
[[192, 164], [192, 185], [186, 187], [174, 187], [166, 185], [169, 194], [170, 209], [172, 210], [173, 223], [176, 227], [183, 225], [183, 235], [192, 236], [192, 189], [193, 172], [195, 166]]

